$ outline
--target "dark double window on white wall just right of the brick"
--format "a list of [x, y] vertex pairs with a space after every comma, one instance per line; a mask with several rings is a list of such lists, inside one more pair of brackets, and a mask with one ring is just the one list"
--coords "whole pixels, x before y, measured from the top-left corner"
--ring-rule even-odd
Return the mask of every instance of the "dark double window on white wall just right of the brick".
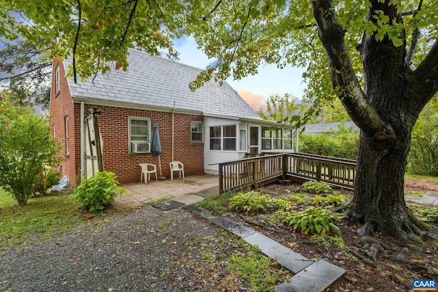
[[210, 150], [235, 151], [236, 125], [210, 127]]

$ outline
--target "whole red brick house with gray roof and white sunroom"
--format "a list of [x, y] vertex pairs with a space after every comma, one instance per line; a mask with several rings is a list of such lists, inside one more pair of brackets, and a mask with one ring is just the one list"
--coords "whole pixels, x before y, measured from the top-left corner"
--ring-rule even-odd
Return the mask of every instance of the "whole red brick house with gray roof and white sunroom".
[[139, 163], [153, 163], [158, 170], [158, 158], [149, 150], [155, 122], [167, 177], [172, 159], [184, 164], [186, 175], [215, 174], [215, 163], [295, 148], [291, 125], [274, 129], [276, 122], [259, 118], [226, 82], [209, 81], [190, 91], [201, 69], [136, 50], [129, 50], [128, 62], [126, 72], [112, 68], [74, 83], [64, 77], [70, 60], [53, 61], [50, 127], [62, 140], [60, 170], [71, 185], [87, 176], [85, 121], [92, 108], [101, 111], [103, 167], [120, 183], [140, 181]]

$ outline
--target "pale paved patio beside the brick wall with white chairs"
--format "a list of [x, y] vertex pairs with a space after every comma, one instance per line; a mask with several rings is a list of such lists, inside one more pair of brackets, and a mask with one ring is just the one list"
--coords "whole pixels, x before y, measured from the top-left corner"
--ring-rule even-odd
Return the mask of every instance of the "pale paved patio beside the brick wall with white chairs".
[[172, 199], [183, 204], [193, 204], [203, 198], [219, 194], [219, 178], [210, 175], [185, 176], [173, 181], [155, 181], [151, 177], [149, 184], [127, 183], [121, 185], [127, 194], [116, 197], [113, 206], [117, 209], [137, 207], [157, 200]]

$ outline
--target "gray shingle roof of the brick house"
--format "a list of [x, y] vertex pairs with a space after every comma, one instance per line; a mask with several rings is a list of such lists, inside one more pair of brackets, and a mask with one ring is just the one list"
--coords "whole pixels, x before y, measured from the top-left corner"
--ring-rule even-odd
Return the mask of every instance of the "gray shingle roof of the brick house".
[[[68, 78], [72, 96], [120, 101], [153, 107], [173, 107], [212, 114], [259, 118], [257, 113], [224, 82], [209, 81], [195, 92], [189, 88], [201, 69], [130, 49], [127, 72], [114, 70], [74, 83]], [[64, 61], [66, 70], [71, 59]]]

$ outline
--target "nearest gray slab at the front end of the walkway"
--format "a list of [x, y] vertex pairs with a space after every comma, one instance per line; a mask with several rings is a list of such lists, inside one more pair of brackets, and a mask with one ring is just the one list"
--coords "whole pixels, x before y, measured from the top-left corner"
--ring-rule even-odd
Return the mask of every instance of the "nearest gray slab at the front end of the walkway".
[[275, 292], [320, 292], [329, 288], [331, 284], [344, 276], [345, 269], [327, 263], [317, 261], [306, 267], [298, 274], [276, 287]]

